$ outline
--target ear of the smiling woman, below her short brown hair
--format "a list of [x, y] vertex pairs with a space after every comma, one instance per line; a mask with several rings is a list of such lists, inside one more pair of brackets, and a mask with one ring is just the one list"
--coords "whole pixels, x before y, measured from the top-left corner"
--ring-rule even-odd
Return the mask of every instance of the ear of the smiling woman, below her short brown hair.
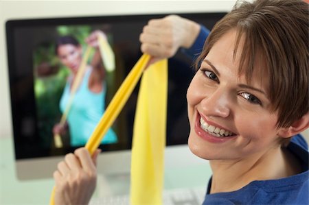
[[278, 135], [283, 138], [288, 138], [290, 136], [294, 136], [303, 132], [309, 127], [309, 112], [305, 114], [301, 119], [293, 122], [292, 125], [288, 128], [281, 128], [279, 129]]

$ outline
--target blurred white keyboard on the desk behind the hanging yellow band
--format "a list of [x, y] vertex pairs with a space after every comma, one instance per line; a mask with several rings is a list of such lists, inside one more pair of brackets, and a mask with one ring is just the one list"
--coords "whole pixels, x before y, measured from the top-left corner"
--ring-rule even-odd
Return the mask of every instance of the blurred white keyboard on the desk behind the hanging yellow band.
[[[170, 189], [163, 191], [163, 205], [201, 205], [206, 193], [205, 187]], [[90, 205], [130, 205], [129, 195], [98, 197]], [[147, 204], [143, 204], [147, 205]]]

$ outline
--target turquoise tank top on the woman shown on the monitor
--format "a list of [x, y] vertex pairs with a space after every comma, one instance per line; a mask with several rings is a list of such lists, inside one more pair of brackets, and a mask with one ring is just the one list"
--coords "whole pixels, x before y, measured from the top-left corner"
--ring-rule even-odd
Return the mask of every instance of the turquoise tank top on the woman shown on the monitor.
[[[89, 91], [88, 84], [91, 71], [92, 68], [85, 71], [82, 82], [80, 82], [80, 86], [74, 95], [69, 114], [67, 115], [71, 146], [85, 145], [104, 113], [106, 86], [102, 82], [103, 88], [100, 93]], [[60, 99], [60, 110], [62, 113], [65, 112], [69, 101], [70, 87], [71, 82], [68, 80]], [[109, 129], [102, 143], [116, 142], [117, 136], [115, 132]]]

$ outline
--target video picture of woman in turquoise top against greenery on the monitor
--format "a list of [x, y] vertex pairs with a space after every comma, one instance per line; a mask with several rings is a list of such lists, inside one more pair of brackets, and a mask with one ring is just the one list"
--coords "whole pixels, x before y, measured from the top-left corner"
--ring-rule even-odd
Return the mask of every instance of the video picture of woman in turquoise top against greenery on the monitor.
[[[50, 144], [58, 135], [63, 146], [84, 146], [104, 114], [106, 101], [111, 98], [107, 93], [112, 94], [117, 89], [117, 68], [106, 69], [101, 57], [104, 53], [100, 53], [104, 50], [100, 50], [98, 43], [102, 36], [113, 47], [109, 27], [57, 26], [49, 29], [49, 34], [54, 33], [55, 38], [38, 43], [34, 48], [38, 134], [45, 143]], [[90, 48], [88, 58], [87, 47]], [[106, 132], [102, 144], [117, 143], [115, 130], [116, 125]]]

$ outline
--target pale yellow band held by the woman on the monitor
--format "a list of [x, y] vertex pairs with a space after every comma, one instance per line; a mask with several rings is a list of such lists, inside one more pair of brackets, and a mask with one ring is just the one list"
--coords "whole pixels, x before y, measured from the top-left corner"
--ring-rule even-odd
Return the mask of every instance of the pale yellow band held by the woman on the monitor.
[[[106, 71], [114, 71], [115, 70], [115, 56], [113, 53], [113, 49], [108, 44], [107, 40], [102, 36], [98, 35], [98, 44], [100, 49], [101, 58], [104, 64]], [[80, 82], [82, 81], [82, 77], [84, 75], [84, 71], [86, 71], [87, 61], [90, 56], [91, 47], [87, 47], [86, 52], [84, 53], [84, 57], [82, 58], [82, 63], [78, 69], [78, 73], [76, 74], [76, 79], [74, 80], [71, 88], [71, 93], [69, 97], [69, 101], [67, 106], [65, 107], [65, 112], [62, 114], [60, 119], [60, 125], [65, 125], [65, 121], [67, 120], [67, 115], [69, 114], [69, 110], [71, 108], [75, 93], [77, 91]], [[60, 148], [63, 146], [60, 134], [56, 134], [54, 136], [55, 147]]]

